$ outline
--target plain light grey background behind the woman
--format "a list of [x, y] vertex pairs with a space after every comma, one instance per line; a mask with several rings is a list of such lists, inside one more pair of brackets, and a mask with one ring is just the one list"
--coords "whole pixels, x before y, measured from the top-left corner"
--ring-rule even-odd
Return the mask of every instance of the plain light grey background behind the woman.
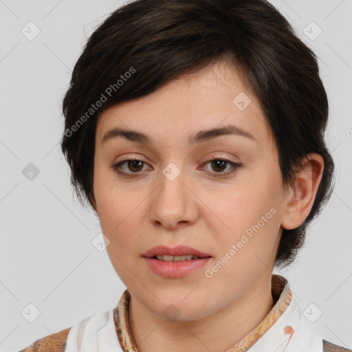
[[[322, 311], [314, 329], [351, 348], [352, 0], [272, 3], [319, 57], [331, 106], [327, 142], [337, 168], [336, 188], [298, 263], [278, 273], [311, 320]], [[0, 0], [0, 351], [17, 351], [112, 309], [125, 289], [107, 252], [91, 243], [100, 225], [73, 197], [58, 144], [60, 104], [74, 63], [94, 26], [121, 4]], [[40, 30], [32, 40], [21, 32], [35, 34], [30, 21]], [[312, 21], [322, 30], [317, 38]], [[32, 180], [23, 175], [30, 163], [39, 170]], [[31, 303], [40, 311], [34, 322], [28, 321], [35, 314]]]

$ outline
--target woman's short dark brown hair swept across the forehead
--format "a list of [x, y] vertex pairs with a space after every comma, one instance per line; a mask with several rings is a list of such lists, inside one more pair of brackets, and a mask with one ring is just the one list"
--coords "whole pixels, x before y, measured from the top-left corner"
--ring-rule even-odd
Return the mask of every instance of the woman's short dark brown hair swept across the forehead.
[[295, 167], [305, 155], [324, 159], [307, 219], [298, 228], [283, 229], [275, 264], [285, 267], [331, 196], [334, 164], [324, 140], [328, 101], [316, 55], [265, 0], [136, 0], [112, 12], [87, 41], [63, 99], [61, 148], [72, 185], [80, 202], [93, 207], [98, 113], [217, 61], [241, 69], [259, 99], [285, 188], [293, 186]]

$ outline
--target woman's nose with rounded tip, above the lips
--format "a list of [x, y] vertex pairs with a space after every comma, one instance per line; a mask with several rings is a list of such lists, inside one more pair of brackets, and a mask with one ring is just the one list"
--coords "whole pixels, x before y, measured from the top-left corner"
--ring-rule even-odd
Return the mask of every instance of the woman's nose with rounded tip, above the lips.
[[175, 164], [169, 165], [160, 173], [159, 186], [151, 195], [149, 216], [155, 225], [173, 230], [195, 223], [199, 204], [186, 173]]

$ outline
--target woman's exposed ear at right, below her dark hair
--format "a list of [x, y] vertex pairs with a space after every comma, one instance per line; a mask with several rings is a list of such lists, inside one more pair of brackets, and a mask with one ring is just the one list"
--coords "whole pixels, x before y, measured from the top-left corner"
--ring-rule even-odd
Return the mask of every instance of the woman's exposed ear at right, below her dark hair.
[[304, 167], [296, 174], [294, 189], [285, 199], [281, 226], [287, 230], [298, 228], [309, 215], [316, 192], [322, 179], [324, 159], [317, 153], [307, 154], [303, 159]]

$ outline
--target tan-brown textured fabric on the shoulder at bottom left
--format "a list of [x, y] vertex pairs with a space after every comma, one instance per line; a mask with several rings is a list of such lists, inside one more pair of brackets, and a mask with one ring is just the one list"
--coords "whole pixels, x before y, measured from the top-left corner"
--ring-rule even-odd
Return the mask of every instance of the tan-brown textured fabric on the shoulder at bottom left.
[[19, 352], [64, 352], [71, 327], [45, 336]]

